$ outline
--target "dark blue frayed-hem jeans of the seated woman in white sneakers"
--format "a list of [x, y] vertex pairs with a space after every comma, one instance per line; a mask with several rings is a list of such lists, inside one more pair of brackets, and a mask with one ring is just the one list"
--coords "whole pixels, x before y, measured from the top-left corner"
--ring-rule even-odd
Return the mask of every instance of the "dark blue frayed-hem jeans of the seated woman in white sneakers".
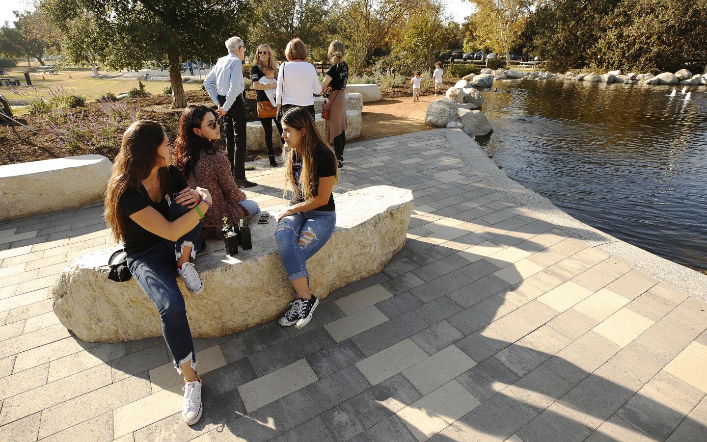
[[[185, 206], [172, 203], [169, 220], [174, 221], [187, 213]], [[182, 373], [180, 364], [192, 360], [192, 369], [197, 366], [194, 354], [192, 330], [187, 321], [187, 309], [182, 292], [177, 286], [177, 259], [182, 255], [182, 246], [192, 246], [191, 257], [201, 249], [204, 234], [201, 221], [176, 242], [164, 240], [146, 251], [128, 256], [130, 273], [138, 285], [157, 306], [162, 320], [162, 334], [174, 359], [175, 368]]]

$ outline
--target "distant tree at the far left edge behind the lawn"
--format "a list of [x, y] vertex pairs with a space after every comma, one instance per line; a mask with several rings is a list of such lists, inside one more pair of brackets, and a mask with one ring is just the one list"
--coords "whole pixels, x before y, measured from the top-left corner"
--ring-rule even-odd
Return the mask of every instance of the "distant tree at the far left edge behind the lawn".
[[13, 11], [17, 20], [13, 27], [5, 23], [0, 28], [0, 52], [8, 56], [24, 57], [28, 66], [30, 58], [45, 66], [42, 56], [47, 50], [60, 49], [59, 34], [52, 25], [42, 20], [36, 11]]

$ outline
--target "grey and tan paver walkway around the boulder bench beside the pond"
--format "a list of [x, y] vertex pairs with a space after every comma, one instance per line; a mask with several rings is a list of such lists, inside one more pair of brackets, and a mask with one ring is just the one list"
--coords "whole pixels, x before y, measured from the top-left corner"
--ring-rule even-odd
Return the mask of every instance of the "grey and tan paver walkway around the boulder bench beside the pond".
[[[52, 313], [102, 207], [1, 223], [0, 441], [705, 441], [707, 304], [528, 215], [449, 133], [347, 146], [339, 191], [413, 189], [407, 245], [302, 330], [197, 340], [191, 428], [162, 338], [81, 342]], [[279, 205], [262, 166], [250, 195]]]

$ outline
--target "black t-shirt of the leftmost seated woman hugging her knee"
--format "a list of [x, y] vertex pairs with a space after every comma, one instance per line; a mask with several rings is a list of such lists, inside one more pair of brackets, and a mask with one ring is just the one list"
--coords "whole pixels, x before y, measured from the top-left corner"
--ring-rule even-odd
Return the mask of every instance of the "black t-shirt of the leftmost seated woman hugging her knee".
[[152, 201], [147, 193], [147, 189], [145, 189], [145, 186], [142, 184], [139, 184], [140, 191], [138, 191], [138, 189], [128, 189], [123, 193], [123, 196], [120, 197], [119, 206], [125, 222], [123, 246], [125, 253], [128, 255], [146, 251], [155, 244], [159, 244], [160, 241], [164, 241], [163, 237], [158, 237], [156, 234], [140, 227], [138, 223], [130, 219], [130, 215], [151, 206], [165, 218], [168, 217], [169, 205], [165, 197], [169, 195], [170, 198], [172, 198], [173, 193], [180, 192], [187, 188], [187, 180], [177, 167], [172, 165], [169, 167], [168, 171], [168, 189], [164, 189], [165, 194], [158, 203]]

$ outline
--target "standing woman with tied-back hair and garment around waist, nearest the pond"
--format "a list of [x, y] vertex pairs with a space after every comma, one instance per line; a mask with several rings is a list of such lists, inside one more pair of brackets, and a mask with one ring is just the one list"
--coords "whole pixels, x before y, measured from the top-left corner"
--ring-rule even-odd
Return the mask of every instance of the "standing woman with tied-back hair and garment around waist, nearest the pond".
[[329, 110], [327, 131], [329, 144], [334, 145], [338, 167], [344, 167], [344, 145], [346, 145], [346, 83], [349, 83], [349, 65], [344, 61], [344, 43], [334, 40], [329, 44], [329, 61], [332, 67], [322, 81], [322, 90], [327, 92], [327, 102], [322, 109]]

